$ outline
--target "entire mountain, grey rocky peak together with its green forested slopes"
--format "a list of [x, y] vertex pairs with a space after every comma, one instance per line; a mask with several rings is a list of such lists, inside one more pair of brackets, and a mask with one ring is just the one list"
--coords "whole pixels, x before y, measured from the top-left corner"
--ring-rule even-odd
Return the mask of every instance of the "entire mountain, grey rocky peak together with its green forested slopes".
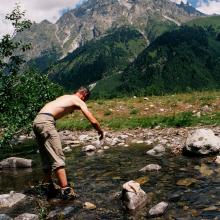
[[88, 0], [17, 36], [29, 65], [94, 97], [219, 88], [220, 17], [169, 0]]

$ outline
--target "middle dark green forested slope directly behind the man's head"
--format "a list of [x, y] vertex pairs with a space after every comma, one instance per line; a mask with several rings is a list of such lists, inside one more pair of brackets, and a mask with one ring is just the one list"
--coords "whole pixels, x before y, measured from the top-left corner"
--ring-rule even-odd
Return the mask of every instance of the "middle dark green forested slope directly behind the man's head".
[[57, 62], [49, 76], [67, 90], [74, 90], [123, 71], [146, 46], [140, 32], [121, 27], [76, 49]]

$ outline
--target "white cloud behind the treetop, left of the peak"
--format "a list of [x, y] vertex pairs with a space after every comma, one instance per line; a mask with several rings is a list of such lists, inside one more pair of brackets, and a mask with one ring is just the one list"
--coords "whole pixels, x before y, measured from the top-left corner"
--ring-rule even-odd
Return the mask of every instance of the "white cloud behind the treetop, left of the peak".
[[26, 11], [26, 18], [31, 21], [41, 22], [47, 19], [56, 22], [63, 11], [74, 8], [82, 0], [1, 0], [0, 7], [0, 37], [5, 33], [11, 33], [12, 27], [4, 20], [15, 4], [19, 3], [22, 11]]

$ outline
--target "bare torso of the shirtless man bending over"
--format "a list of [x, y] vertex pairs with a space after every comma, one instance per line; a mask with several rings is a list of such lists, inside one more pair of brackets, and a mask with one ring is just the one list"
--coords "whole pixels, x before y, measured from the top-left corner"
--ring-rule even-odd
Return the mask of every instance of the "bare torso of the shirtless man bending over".
[[73, 112], [75, 109], [86, 107], [86, 104], [76, 95], [63, 95], [47, 103], [39, 113], [50, 113], [55, 119]]

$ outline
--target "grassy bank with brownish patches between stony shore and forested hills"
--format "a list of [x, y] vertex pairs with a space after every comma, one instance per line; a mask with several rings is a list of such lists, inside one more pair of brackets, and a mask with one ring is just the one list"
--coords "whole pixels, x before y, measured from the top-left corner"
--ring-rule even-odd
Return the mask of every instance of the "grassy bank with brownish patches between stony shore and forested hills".
[[[220, 92], [89, 101], [105, 129], [220, 125]], [[90, 129], [81, 112], [58, 120], [59, 130]]]

